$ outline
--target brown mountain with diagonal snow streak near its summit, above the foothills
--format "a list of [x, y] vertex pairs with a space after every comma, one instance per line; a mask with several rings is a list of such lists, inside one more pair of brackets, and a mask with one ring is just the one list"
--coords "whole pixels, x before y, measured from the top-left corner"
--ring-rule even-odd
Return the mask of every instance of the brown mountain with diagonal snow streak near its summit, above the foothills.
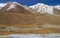
[[[0, 4], [1, 5], [1, 4]], [[20, 13], [35, 13], [36, 11], [33, 11], [31, 8], [25, 5], [21, 5], [17, 2], [8, 2], [3, 3], [0, 6], [0, 12], [20, 12]]]

